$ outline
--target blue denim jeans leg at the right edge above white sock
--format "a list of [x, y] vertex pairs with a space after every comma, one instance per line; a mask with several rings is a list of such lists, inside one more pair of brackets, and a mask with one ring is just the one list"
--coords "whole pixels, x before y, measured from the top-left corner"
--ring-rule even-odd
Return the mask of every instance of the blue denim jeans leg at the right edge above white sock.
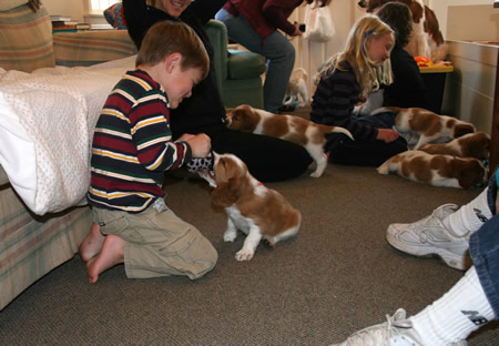
[[499, 318], [499, 215], [487, 221], [469, 240], [469, 252], [496, 319]]

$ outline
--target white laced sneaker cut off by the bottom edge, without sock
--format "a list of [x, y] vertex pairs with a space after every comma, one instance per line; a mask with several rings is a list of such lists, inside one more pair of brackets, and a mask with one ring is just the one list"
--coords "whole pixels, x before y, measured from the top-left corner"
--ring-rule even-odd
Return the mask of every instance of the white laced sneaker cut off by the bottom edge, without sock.
[[[386, 315], [387, 322], [367, 327], [350, 335], [342, 344], [333, 346], [430, 346], [421, 342], [413, 323], [406, 319], [406, 311], [399, 308], [394, 316]], [[466, 340], [448, 346], [467, 346]]]

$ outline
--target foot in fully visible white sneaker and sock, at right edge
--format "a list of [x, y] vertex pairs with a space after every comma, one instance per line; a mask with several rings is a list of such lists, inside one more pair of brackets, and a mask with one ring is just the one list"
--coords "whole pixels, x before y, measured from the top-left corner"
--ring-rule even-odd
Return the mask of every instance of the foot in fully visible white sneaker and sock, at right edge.
[[466, 269], [469, 237], [496, 214], [496, 174], [489, 186], [470, 203], [458, 208], [455, 204], [437, 207], [431, 215], [415, 223], [395, 223], [388, 226], [386, 238], [399, 251], [416, 255], [437, 255], [447, 265]]

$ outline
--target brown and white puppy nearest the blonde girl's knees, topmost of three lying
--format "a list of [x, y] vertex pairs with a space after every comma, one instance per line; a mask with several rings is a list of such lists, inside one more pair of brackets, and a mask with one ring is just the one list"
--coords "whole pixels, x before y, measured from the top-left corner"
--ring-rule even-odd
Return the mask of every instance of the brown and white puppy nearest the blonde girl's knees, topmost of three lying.
[[409, 145], [416, 144], [415, 150], [426, 143], [446, 143], [475, 132], [475, 126], [466, 121], [421, 108], [383, 106], [371, 115], [386, 111], [395, 113], [395, 130], [408, 139]]

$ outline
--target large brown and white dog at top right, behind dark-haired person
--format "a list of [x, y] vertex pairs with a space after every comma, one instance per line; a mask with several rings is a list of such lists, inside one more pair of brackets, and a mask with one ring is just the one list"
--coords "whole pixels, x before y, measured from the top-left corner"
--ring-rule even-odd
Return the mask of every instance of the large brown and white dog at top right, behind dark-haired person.
[[424, 4], [422, 0], [360, 0], [358, 6], [370, 13], [391, 1], [406, 4], [413, 13], [413, 33], [405, 49], [413, 57], [426, 57], [436, 63], [444, 61], [448, 47], [444, 42], [435, 12]]

